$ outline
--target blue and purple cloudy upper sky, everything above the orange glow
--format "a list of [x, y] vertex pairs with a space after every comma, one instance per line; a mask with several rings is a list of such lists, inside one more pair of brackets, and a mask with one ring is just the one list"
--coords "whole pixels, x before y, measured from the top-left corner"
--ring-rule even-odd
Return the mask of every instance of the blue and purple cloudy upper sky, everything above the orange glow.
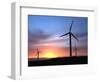
[[[29, 45], [55, 45], [69, 47], [69, 37], [59, 37], [69, 32], [70, 24], [72, 33], [79, 39], [78, 47], [87, 47], [88, 18], [69, 16], [28, 16], [28, 42]], [[73, 45], [75, 44], [73, 39]]]

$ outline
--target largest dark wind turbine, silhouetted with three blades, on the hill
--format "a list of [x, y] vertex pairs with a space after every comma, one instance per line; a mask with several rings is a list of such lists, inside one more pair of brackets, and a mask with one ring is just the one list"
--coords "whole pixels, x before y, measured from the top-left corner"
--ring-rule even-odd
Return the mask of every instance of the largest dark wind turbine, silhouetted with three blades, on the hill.
[[63, 36], [69, 35], [70, 56], [72, 56], [72, 37], [75, 38], [78, 41], [77, 37], [71, 32], [72, 25], [73, 25], [73, 21], [72, 21], [72, 23], [70, 25], [69, 32], [60, 36], [60, 37], [63, 37]]

